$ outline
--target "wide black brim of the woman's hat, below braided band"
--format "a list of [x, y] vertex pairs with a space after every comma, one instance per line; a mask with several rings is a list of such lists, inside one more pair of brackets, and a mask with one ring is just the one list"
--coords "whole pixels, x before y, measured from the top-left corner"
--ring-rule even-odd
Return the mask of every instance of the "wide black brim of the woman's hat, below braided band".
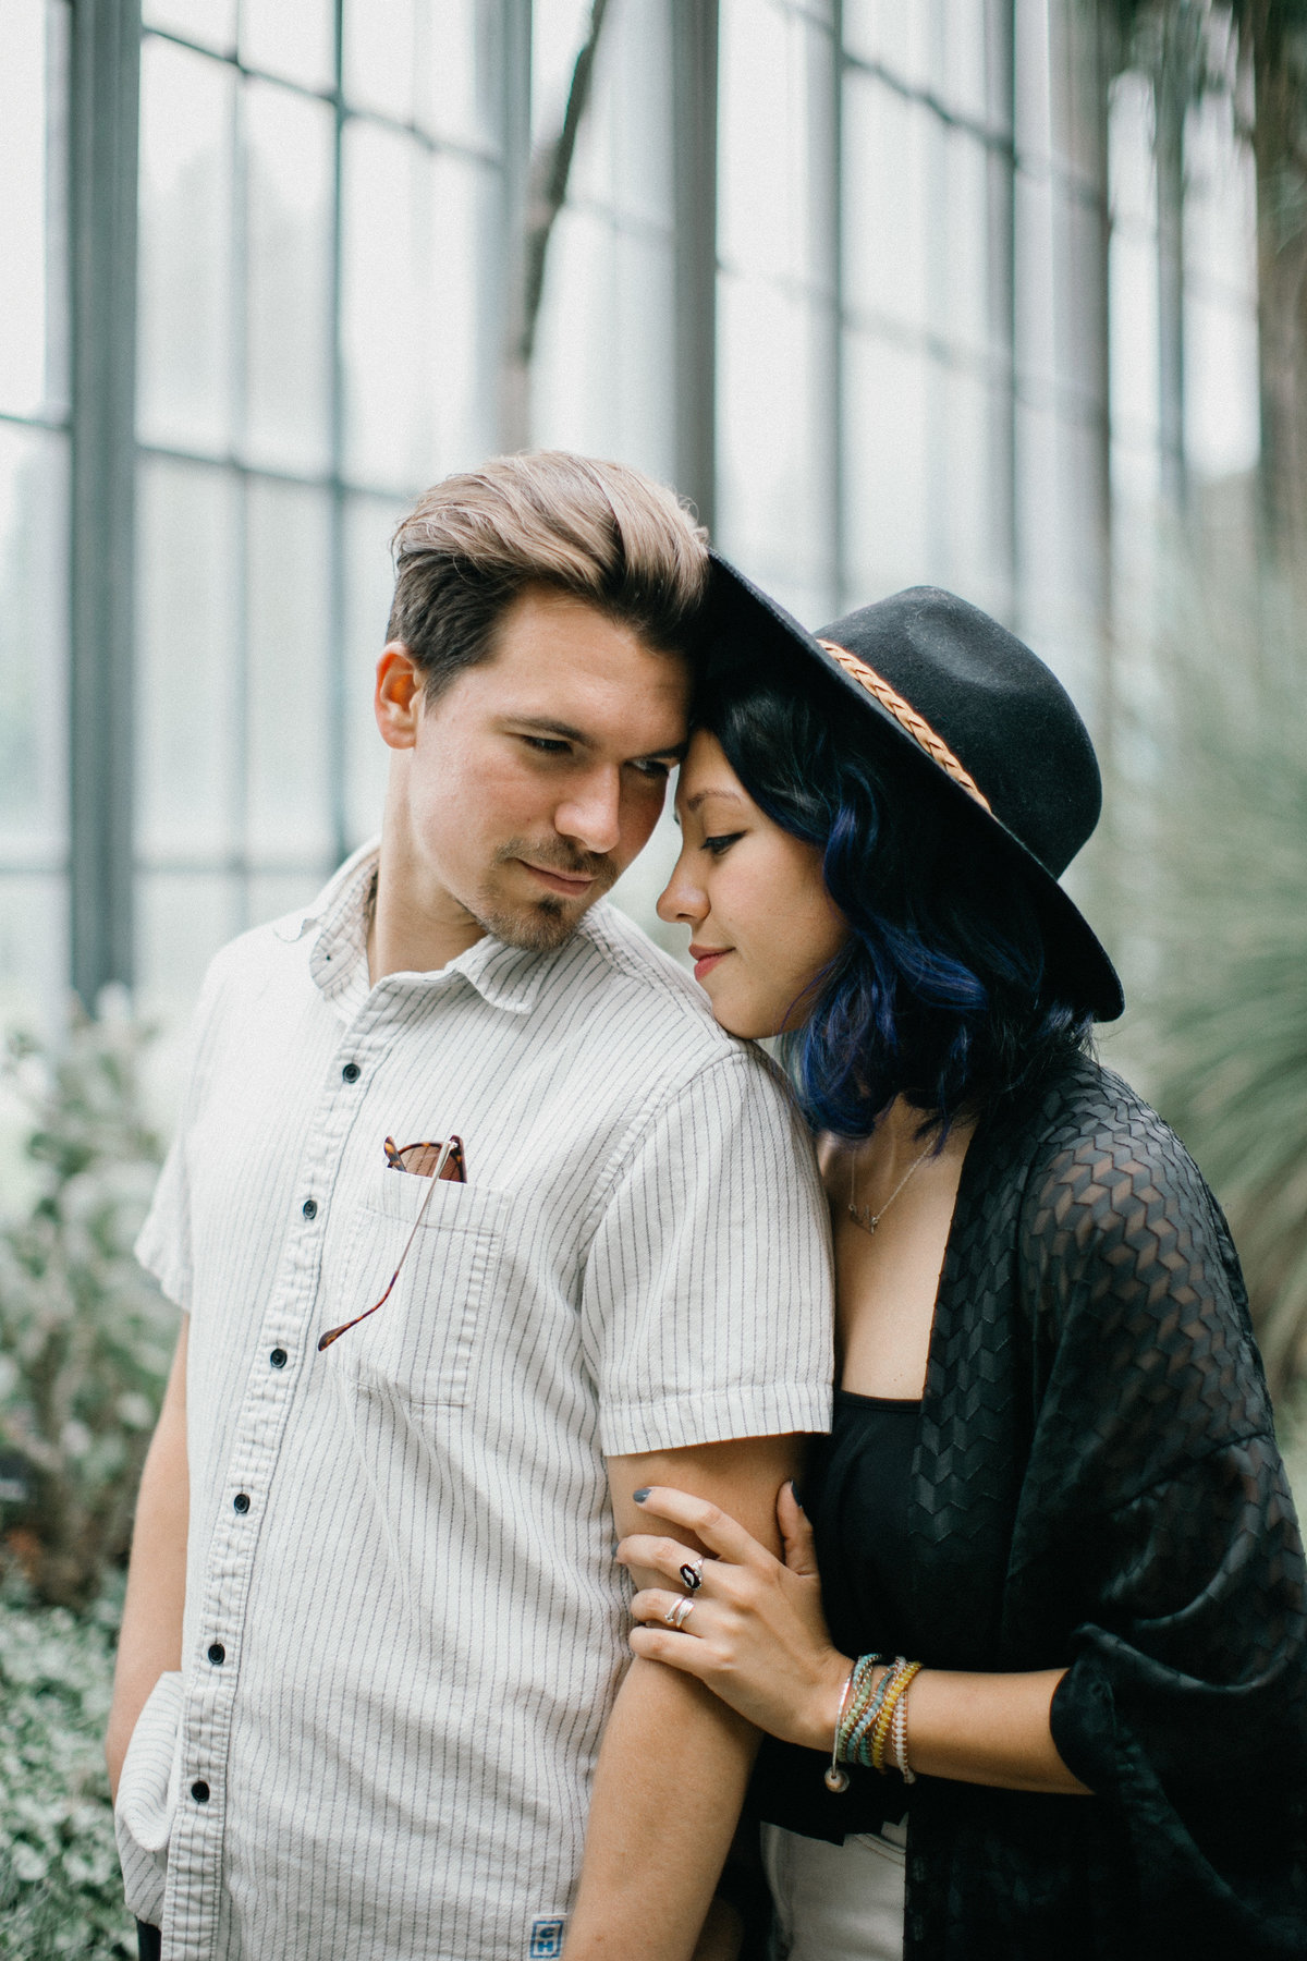
[[1058, 988], [1070, 1000], [1089, 1008], [1095, 1022], [1117, 1020], [1125, 1010], [1117, 969], [1086, 916], [1046, 865], [1041, 865], [1001, 818], [995, 818], [962, 784], [954, 782], [896, 722], [890, 710], [825, 651], [807, 628], [799, 626], [784, 606], [778, 606], [717, 551], [711, 553], [702, 651], [713, 677], [756, 675], [758, 661], [766, 659], [780, 663], [782, 669], [799, 659], [809, 665], [809, 671], [825, 675], [839, 688], [837, 700], [856, 704], [868, 737], [884, 743], [886, 753], [894, 755], [909, 775], [915, 773], [927, 794], [944, 798], [944, 806], [954, 814], [962, 833], [986, 837], [1011, 863], [1039, 912], [1048, 971]]

